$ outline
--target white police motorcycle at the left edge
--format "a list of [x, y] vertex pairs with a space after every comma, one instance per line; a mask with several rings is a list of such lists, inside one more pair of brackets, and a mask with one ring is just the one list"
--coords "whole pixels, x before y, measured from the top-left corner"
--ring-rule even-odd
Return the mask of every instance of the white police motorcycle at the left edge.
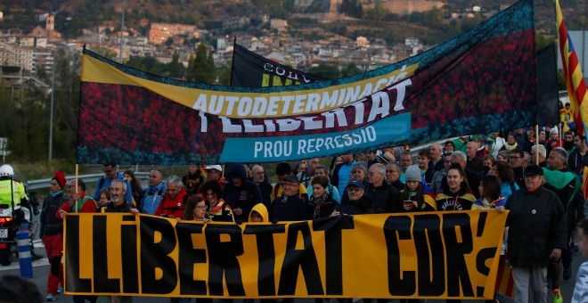
[[[28, 208], [14, 209], [14, 215], [17, 217], [22, 212], [24, 217], [30, 217]], [[0, 265], [9, 266], [12, 262], [12, 256], [18, 256], [18, 245], [16, 233], [20, 230], [20, 221], [12, 216], [12, 208], [5, 204], [0, 204]]]

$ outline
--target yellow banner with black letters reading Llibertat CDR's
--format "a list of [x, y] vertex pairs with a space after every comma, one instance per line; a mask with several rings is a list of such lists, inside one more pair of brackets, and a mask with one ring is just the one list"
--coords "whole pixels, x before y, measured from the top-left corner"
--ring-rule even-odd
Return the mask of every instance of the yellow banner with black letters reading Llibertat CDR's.
[[234, 225], [68, 214], [65, 291], [491, 299], [506, 217], [491, 209]]

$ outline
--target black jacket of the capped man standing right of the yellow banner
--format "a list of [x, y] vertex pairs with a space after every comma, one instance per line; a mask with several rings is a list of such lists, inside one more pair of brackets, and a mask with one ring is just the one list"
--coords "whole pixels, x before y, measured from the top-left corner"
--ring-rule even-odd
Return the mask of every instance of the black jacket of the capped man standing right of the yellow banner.
[[539, 187], [535, 192], [512, 192], [505, 209], [510, 209], [507, 256], [510, 266], [546, 267], [553, 249], [568, 247], [564, 209], [558, 196]]

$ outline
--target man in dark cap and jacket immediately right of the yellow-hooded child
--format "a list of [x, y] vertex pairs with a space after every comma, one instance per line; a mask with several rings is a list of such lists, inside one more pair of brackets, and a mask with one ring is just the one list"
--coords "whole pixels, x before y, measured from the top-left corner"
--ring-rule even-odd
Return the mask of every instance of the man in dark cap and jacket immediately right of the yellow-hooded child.
[[285, 176], [282, 179], [282, 196], [276, 198], [269, 209], [269, 217], [274, 221], [299, 221], [310, 218], [306, 202], [298, 197], [298, 177]]

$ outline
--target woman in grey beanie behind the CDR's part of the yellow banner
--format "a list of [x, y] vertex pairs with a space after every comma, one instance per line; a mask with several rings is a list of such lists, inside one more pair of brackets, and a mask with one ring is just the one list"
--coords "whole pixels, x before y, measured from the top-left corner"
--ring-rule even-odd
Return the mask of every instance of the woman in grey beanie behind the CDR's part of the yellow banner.
[[435, 211], [437, 204], [433, 197], [426, 194], [422, 187], [421, 168], [411, 165], [404, 173], [406, 185], [400, 191], [405, 211]]

